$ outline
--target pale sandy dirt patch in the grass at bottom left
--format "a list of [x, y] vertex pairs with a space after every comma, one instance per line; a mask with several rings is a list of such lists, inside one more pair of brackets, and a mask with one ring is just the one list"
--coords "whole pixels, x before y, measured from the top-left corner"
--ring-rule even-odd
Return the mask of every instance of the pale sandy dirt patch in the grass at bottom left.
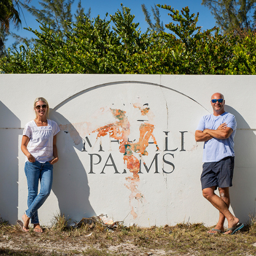
[[[90, 233], [91, 234], [91, 233]], [[89, 235], [90, 235], [89, 234]], [[66, 234], [65, 234], [66, 235]], [[49, 234], [50, 236], [50, 234]], [[93, 236], [93, 234], [91, 235]], [[113, 241], [113, 244], [103, 245], [102, 239], [92, 242], [89, 237], [80, 236], [73, 238], [51, 239], [43, 238], [42, 234], [29, 234], [25, 232], [16, 235], [4, 235], [0, 238], [0, 254], [27, 255], [168, 255], [174, 251], [163, 249], [148, 249], [134, 245], [133, 241]], [[2, 249], [2, 251], [1, 251]], [[4, 250], [6, 249], [6, 251]], [[175, 254], [189, 255], [189, 254]], [[192, 254], [190, 254], [192, 255]]]

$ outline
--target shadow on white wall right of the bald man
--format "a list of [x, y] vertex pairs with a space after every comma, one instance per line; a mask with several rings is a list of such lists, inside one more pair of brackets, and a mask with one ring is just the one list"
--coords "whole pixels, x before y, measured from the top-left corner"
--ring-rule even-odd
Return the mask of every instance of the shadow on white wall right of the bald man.
[[225, 110], [235, 115], [237, 132], [235, 136], [235, 170], [233, 187], [230, 188], [231, 207], [240, 222], [247, 223], [255, 216], [256, 204], [256, 130], [235, 109]]

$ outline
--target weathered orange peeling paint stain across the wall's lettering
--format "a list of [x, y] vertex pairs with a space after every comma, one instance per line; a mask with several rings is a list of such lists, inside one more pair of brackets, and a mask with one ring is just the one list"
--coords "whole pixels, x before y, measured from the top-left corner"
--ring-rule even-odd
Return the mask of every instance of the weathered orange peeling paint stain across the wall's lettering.
[[[134, 106], [134, 108], [139, 108], [142, 115], [146, 115], [149, 111], [149, 108], [142, 109], [137, 106]], [[153, 135], [154, 125], [149, 123], [141, 124], [139, 126], [138, 142], [131, 143], [129, 142], [130, 122], [127, 119], [126, 112], [120, 109], [111, 109], [111, 111], [114, 118], [118, 119], [118, 121], [104, 125], [94, 132], [98, 132], [97, 138], [109, 134], [110, 137], [119, 140], [119, 151], [123, 153], [124, 164], [126, 164], [127, 169], [129, 169], [129, 171], [133, 174], [132, 177], [125, 178], [126, 183], [124, 185], [131, 191], [129, 196], [131, 214], [133, 215], [133, 218], [136, 218], [137, 214], [132, 206], [132, 201], [142, 201], [144, 197], [141, 191], [137, 189], [139, 184], [138, 172], [140, 169], [140, 162], [139, 159], [134, 156], [134, 153], [138, 153], [139, 156], [148, 155], [146, 148], [148, 146], [150, 137], [153, 138], [154, 144], [156, 144], [157, 149], [159, 149]]]

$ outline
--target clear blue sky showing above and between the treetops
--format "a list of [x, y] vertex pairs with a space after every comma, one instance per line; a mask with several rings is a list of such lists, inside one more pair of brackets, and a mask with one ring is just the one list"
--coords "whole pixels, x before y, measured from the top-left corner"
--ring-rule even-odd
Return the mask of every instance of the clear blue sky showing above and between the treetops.
[[[77, 8], [78, 0], [75, 0], [72, 11], [75, 13]], [[211, 11], [203, 6], [202, 0], [92, 0], [92, 1], [85, 1], [82, 0], [82, 5], [85, 8], [85, 13], [87, 12], [88, 8], [91, 7], [91, 18], [97, 17], [97, 15], [100, 15], [100, 17], [104, 17], [106, 13], [108, 14], [114, 14], [118, 9], [121, 8], [121, 3], [125, 7], [129, 7], [131, 9], [131, 13], [135, 15], [135, 22], [139, 22], [139, 27], [141, 27], [141, 30], [143, 32], [147, 29], [147, 24], [145, 21], [145, 17], [142, 11], [142, 4], [145, 4], [147, 9], [151, 11], [151, 6], [154, 6], [155, 4], [160, 5], [170, 5], [174, 9], [181, 10], [182, 7], [189, 6], [190, 13], [198, 13], [199, 12], [199, 21], [197, 22], [197, 26], [201, 26], [203, 30], [211, 29], [215, 26], [215, 20], [213, 15], [211, 14]], [[41, 9], [41, 6], [39, 5], [39, 1], [37, 0], [31, 0], [29, 5], [36, 6], [37, 8]], [[21, 20], [22, 20], [22, 28], [24, 27], [31, 27], [32, 29], [39, 29], [39, 24], [36, 21], [36, 19], [28, 13], [25, 9], [22, 9], [23, 14], [21, 14]], [[160, 15], [161, 20], [165, 24], [168, 24], [171, 21], [170, 16], [168, 16], [168, 11], [165, 9], [160, 9]], [[24, 18], [25, 17], [25, 18]], [[152, 17], [153, 19], [153, 17]], [[25, 22], [26, 20], [26, 22]], [[22, 37], [28, 37], [31, 38], [33, 34], [25, 29], [20, 28], [19, 30], [11, 29], [12, 32], [19, 34]], [[166, 29], [166, 31], [168, 31]], [[15, 40], [11, 37], [8, 37], [8, 40], [6, 42], [6, 46], [10, 46], [13, 44]]]

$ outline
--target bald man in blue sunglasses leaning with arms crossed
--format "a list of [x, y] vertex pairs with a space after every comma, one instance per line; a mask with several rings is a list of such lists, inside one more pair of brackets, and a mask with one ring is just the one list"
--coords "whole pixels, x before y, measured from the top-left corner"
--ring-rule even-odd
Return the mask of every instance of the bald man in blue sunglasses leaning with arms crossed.
[[[219, 211], [219, 220], [208, 234], [224, 233], [225, 218], [228, 229], [224, 234], [235, 234], [244, 225], [228, 210], [229, 187], [232, 186], [234, 171], [234, 137], [237, 122], [235, 116], [225, 112], [225, 100], [218, 92], [212, 95], [213, 114], [205, 115], [195, 131], [195, 140], [204, 142], [203, 172], [201, 184], [203, 196]], [[219, 196], [215, 190], [219, 191]]]

